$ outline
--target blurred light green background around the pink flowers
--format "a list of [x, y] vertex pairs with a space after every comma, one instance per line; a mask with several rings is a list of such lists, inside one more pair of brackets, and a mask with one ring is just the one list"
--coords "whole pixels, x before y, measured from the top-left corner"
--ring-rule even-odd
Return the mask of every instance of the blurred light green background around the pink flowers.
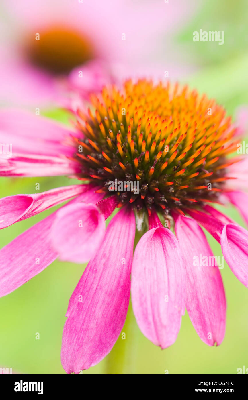
[[[184, 77], [183, 82], [215, 97], [231, 115], [238, 106], [248, 106], [247, 26], [246, 0], [205, 1], [197, 15], [174, 36], [177, 48], [197, 65], [197, 71]], [[200, 28], [224, 30], [224, 45], [193, 42], [193, 31]], [[183, 66], [183, 57], [181, 63]], [[68, 116], [61, 110], [47, 110], [43, 114], [68, 124]], [[40, 192], [74, 183], [65, 177], [1, 178], [0, 195], [37, 192], [36, 182]], [[0, 247], [54, 209], [1, 230]], [[234, 208], [224, 212], [244, 226]], [[209, 234], [207, 237], [214, 254], [221, 255], [219, 244]], [[65, 312], [85, 266], [57, 260], [0, 299], [0, 366], [27, 374], [65, 373], [60, 363]], [[219, 347], [211, 348], [200, 340], [186, 312], [175, 344], [160, 350], [139, 331], [130, 307], [128, 324], [122, 329], [126, 340], [119, 338], [112, 352], [83, 374], [164, 374], [165, 370], [169, 374], [236, 374], [237, 368], [248, 368], [248, 290], [226, 263], [221, 274], [228, 308], [226, 336]], [[35, 339], [36, 332], [39, 340]]]

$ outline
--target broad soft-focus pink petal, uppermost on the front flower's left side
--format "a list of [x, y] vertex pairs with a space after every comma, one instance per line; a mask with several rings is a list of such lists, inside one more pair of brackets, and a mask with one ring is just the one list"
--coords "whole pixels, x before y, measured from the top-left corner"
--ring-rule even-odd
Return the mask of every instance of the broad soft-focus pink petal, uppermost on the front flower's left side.
[[0, 110], [0, 143], [12, 144], [12, 154], [72, 156], [74, 134], [62, 124], [34, 113], [16, 109]]

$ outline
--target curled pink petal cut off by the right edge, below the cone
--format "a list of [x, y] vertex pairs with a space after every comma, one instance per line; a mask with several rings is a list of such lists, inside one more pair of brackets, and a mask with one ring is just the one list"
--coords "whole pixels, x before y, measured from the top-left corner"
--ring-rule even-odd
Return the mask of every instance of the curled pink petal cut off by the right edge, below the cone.
[[248, 288], [248, 231], [241, 226], [224, 226], [220, 244], [224, 258], [242, 284]]

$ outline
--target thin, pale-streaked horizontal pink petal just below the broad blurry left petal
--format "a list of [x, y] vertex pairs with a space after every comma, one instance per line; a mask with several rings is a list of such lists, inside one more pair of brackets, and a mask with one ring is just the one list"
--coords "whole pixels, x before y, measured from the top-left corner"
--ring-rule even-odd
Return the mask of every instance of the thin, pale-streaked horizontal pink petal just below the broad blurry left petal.
[[58, 176], [79, 173], [80, 164], [51, 156], [0, 158], [0, 176]]

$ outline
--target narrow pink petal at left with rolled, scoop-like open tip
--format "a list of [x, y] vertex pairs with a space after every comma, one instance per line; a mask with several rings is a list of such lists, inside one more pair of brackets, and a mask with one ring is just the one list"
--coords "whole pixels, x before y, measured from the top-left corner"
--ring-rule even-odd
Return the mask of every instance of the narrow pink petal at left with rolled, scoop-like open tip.
[[0, 229], [56, 206], [88, 188], [88, 185], [71, 185], [47, 192], [4, 197], [0, 199]]

